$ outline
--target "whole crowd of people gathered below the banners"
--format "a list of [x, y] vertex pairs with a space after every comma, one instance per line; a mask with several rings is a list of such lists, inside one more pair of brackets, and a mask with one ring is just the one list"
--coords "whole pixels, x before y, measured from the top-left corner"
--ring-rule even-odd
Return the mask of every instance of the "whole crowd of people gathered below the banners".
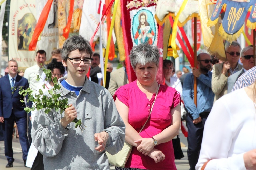
[[[13, 167], [16, 123], [24, 166], [31, 169], [109, 169], [105, 152], [116, 154], [124, 141], [132, 150], [125, 167], [117, 170], [176, 169], [174, 160], [184, 157], [179, 131], [185, 121], [190, 170], [256, 169], [253, 48], [241, 49], [234, 41], [225, 44], [225, 52], [226, 61], [198, 54], [191, 70], [175, 71], [174, 63], [164, 60], [165, 79], [159, 84], [158, 48], [139, 44], [129, 55], [137, 79], [129, 82], [125, 61], [115, 71], [108, 62], [106, 88], [100, 55], [82, 36], [70, 37], [62, 49], [53, 50], [47, 65], [46, 52], [38, 50], [37, 63], [23, 77], [17, 62], [10, 60], [7, 74], [0, 78], [0, 138], [2, 133], [6, 167]], [[68, 101], [63, 114], [42, 109], [27, 115], [20, 101], [24, 97], [12, 88], [30, 87], [37, 95], [44, 84], [48, 94], [54, 82], [44, 81], [43, 68], [57, 77], [60, 99]], [[85, 130], [76, 129], [75, 118], [87, 126]]]

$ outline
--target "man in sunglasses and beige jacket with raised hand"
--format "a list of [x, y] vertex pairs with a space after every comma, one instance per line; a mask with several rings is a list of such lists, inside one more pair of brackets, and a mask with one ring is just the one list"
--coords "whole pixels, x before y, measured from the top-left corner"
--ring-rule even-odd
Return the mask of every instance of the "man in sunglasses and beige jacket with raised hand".
[[228, 91], [228, 76], [232, 75], [243, 68], [238, 63], [241, 46], [238, 42], [227, 42], [225, 44], [227, 61], [215, 64], [212, 71], [212, 91], [215, 94], [214, 102]]

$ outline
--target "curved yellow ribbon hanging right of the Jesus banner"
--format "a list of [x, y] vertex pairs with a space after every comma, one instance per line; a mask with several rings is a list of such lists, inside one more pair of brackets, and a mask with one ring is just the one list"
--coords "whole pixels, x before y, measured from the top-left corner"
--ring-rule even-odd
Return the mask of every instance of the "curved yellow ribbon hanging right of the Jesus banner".
[[[184, 0], [182, 2], [182, 5], [181, 5], [181, 8], [179, 10], [179, 12], [177, 13], [176, 17], [175, 17], [175, 20], [174, 20], [174, 23], [173, 23], [173, 27], [172, 27], [172, 41], [171, 41], [171, 45], [172, 45], [172, 54], [173, 54], [173, 57], [174, 58], [177, 58], [179, 57], [178, 53], [177, 53], [177, 49], [176, 49], [176, 36], [177, 36], [177, 28], [178, 28], [178, 22], [179, 22], [179, 16], [181, 14], [181, 12], [184, 10], [186, 4], [187, 4], [187, 1], [188, 0]], [[196, 35], [195, 35], [196, 36]]]

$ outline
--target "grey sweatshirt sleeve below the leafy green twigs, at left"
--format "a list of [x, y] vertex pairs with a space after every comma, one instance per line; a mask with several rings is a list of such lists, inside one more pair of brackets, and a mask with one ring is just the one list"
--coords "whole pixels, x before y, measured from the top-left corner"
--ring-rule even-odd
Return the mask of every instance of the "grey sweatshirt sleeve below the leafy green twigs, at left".
[[60, 124], [60, 114], [51, 111], [48, 114], [42, 110], [35, 114], [31, 137], [37, 150], [46, 157], [54, 157], [62, 148], [65, 134], [69, 131]]

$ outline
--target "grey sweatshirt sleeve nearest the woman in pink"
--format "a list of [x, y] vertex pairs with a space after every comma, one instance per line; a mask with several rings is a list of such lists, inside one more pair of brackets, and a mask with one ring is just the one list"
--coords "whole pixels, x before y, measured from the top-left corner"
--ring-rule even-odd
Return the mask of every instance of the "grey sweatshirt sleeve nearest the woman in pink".
[[110, 101], [105, 109], [104, 128], [103, 131], [109, 134], [106, 151], [114, 155], [124, 146], [125, 124], [116, 109], [112, 96], [110, 96]]

